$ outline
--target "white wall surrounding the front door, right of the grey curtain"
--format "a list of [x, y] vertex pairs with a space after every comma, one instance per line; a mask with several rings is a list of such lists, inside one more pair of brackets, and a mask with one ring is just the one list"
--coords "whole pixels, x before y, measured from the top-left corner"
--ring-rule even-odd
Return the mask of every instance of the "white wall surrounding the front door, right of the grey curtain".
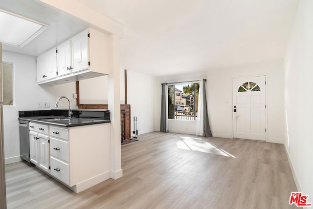
[[254, 75], [267, 76], [268, 142], [284, 139], [284, 68], [283, 61], [258, 63], [207, 71], [209, 121], [213, 136], [232, 138], [232, 79]]

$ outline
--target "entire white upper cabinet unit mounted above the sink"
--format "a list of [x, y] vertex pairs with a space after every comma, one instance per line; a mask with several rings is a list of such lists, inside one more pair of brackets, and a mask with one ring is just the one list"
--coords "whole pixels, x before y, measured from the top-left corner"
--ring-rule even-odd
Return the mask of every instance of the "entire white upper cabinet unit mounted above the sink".
[[[38, 84], [58, 85], [108, 75], [110, 47], [108, 35], [91, 28], [57, 46], [57, 77], [48, 79], [42, 72], [41, 56], [37, 60]], [[48, 64], [50, 66], [50, 64]], [[52, 65], [51, 65], [52, 66]], [[50, 70], [49, 70], [50, 72]], [[52, 71], [51, 71], [52, 72]], [[42, 74], [44, 74], [42, 76]], [[51, 73], [52, 75], [53, 73]], [[42, 79], [42, 77], [44, 77]]]

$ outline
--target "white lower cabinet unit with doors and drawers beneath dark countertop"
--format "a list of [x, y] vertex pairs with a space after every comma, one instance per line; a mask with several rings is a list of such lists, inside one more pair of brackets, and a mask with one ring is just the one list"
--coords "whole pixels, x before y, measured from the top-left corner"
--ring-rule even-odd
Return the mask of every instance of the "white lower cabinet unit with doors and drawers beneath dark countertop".
[[29, 123], [29, 129], [31, 163], [73, 191], [111, 177], [109, 123], [68, 128]]

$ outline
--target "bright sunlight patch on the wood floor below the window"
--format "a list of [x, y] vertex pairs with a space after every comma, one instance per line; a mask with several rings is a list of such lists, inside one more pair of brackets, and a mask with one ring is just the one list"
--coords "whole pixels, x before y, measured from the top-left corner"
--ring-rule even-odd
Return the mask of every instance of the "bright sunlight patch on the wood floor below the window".
[[210, 143], [205, 142], [201, 138], [195, 137], [180, 137], [180, 138], [181, 139], [176, 143], [179, 149], [187, 149], [236, 158], [235, 156], [229, 154], [225, 150], [214, 145], [211, 145]]

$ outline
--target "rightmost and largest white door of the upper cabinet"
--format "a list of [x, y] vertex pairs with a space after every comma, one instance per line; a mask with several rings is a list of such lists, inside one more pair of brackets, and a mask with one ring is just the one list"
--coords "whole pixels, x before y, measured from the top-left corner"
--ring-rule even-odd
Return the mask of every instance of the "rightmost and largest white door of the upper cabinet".
[[89, 69], [89, 37], [88, 31], [72, 38], [72, 72]]

